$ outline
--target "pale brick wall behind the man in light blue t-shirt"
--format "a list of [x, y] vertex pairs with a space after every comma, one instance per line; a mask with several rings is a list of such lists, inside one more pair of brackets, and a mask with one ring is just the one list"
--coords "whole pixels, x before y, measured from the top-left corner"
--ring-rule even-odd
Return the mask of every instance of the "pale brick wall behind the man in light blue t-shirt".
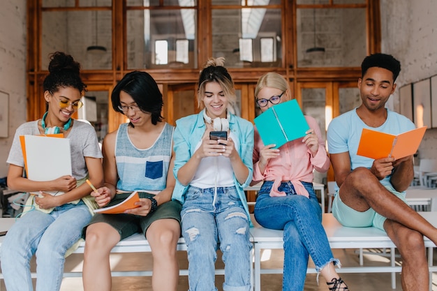
[[[394, 110], [400, 87], [437, 75], [436, 10], [435, 0], [380, 0], [382, 51], [401, 61]], [[425, 133], [418, 158], [437, 158], [437, 128]]]

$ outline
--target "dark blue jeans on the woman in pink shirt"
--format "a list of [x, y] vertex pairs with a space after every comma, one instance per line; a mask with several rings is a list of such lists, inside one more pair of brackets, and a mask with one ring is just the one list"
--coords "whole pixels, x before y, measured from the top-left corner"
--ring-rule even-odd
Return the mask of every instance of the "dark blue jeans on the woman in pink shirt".
[[279, 191], [286, 196], [271, 197], [273, 181], [262, 184], [255, 203], [255, 219], [262, 227], [283, 230], [285, 258], [283, 262], [283, 291], [304, 290], [309, 255], [320, 271], [333, 258], [325, 230], [322, 209], [313, 184], [302, 182], [309, 198], [297, 195], [290, 182], [283, 182]]

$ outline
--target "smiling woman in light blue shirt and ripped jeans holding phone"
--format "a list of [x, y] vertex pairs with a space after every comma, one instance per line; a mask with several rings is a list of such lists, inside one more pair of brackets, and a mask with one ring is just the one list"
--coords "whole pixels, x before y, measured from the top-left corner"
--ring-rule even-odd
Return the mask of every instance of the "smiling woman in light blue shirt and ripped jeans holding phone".
[[[198, 103], [205, 107], [176, 122], [173, 199], [183, 202], [182, 235], [188, 246], [190, 291], [214, 291], [220, 242], [223, 290], [251, 288], [249, 211], [243, 188], [251, 182], [253, 125], [230, 113], [235, 89], [223, 58], [209, 59], [200, 73]], [[228, 138], [210, 140], [222, 130]]]

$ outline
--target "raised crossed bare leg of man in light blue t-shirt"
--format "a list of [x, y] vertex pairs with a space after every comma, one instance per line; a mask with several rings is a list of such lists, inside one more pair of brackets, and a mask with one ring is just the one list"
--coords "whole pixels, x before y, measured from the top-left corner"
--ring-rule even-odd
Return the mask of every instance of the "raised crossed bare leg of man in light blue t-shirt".
[[437, 228], [380, 184], [369, 170], [358, 167], [340, 188], [341, 201], [357, 211], [370, 207], [381, 216], [416, 230], [437, 245]]

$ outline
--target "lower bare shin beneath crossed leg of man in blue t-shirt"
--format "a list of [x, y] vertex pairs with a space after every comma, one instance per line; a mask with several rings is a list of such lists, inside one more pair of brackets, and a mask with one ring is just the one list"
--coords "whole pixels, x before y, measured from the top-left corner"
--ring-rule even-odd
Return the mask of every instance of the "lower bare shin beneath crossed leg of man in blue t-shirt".
[[384, 228], [401, 254], [402, 290], [429, 290], [429, 271], [422, 234], [388, 219]]

